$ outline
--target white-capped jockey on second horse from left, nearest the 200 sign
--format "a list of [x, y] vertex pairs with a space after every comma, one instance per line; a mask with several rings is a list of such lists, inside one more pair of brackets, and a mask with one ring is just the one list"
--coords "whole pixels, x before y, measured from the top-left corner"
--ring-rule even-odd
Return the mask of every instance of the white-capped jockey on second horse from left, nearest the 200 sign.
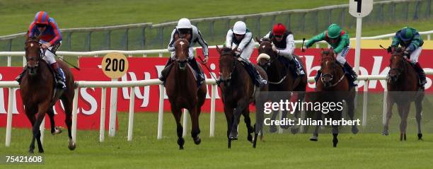
[[[192, 47], [195, 46], [195, 43], [198, 42], [200, 46], [203, 48], [203, 64], [207, 63], [207, 60], [209, 59], [209, 49], [207, 48], [207, 42], [204, 41], [202, 37], [202, 33], [200, 33], [200, 30], [195, 25], [191, 25], [191, 22], [187, 18], [181, 18], [178, 21], [178, 25], [171, 33], [171, 40], [168, 44], [168, 51], [171, 52], [171, 59], [168, 59], [168, 62], [165, 66], [165, 68], [173, 62], [175, 59], [175, 39], [177, 38], [183, 38], [183, 37], [190, 37], [190, 39], [187, 39], [188, 42], [190, 42], [190, 48], [189, 48], [189, 57], [188, 62], [190, 63], [192, 69], [194, 69], [195, 73], [197, 74], [197, 81], [201, 83], [204, 80], [204, 74], [200, 70], [197, 61], [195, 61], [194, 57], [194, 49]], [[161, 76], [159, 76], [159, 80], [166, 81], [166, 78], [168, 76], [169, 70], [164, 70], [161, 72]]]

